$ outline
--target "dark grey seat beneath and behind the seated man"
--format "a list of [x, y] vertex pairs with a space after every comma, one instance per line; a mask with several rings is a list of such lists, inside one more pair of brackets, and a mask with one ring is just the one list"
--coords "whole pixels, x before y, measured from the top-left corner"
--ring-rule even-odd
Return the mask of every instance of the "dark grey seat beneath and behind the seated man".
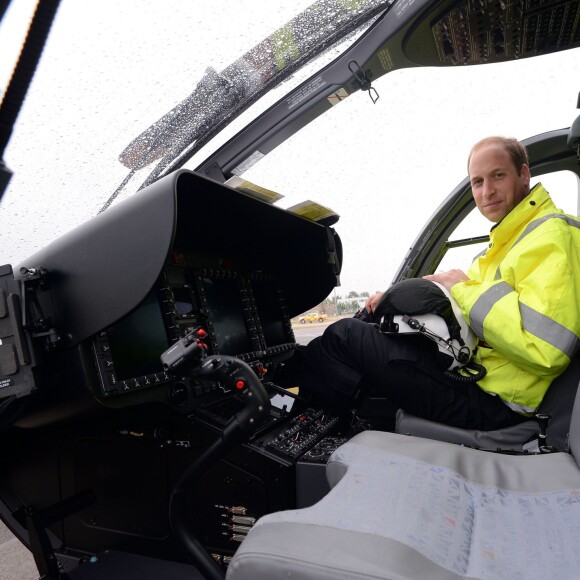
[[[572, 407], [580, 384], [580, 353], [571, 360], [568, 368], [557, 377], [540, 407], [539, 413], [546, 413], [552, 418], [548, 425], [548, 445], [558, 451], [568, 448], [568, 432], [572, 416]], [[436, 439], [448, 443], [479, 447], [481, 449], [504, 449], [522, 451], [524, 445], [536, 438], [539, 431], [535, 420], [525, 421], [513, 427], [496, 431], [479, 431], [476, 429], [458, 429], [434, 421], [428, 421], [410, 415], [403, 410], [397, 412], [395, 432]]]

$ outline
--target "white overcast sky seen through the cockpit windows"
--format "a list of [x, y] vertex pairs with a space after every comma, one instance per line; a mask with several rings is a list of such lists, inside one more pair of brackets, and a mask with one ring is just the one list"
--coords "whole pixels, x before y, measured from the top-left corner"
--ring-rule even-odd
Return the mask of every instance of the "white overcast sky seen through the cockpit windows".
[[[133, 137], [187, 96], [206, 66], [223, 69], [310, 3], [271, 2], [266, 12], [260, 1], [63, 0], [37, 73], [42, 90], [31, 91], [5, 154], [15, 177], [0, 212], [3, 263], [94, 215], [125, 177], [117, 156]], [[3, 86], [35, 2], [12, 4], [0, 26]], [[171, 18], [178, 6], [191, 10]], [[339, 292], [383, 289], [465, 177], [469, 147], [488, 134], [525, 138], [569, 126], [580, 113], [579, 79], [578, 49], [395, 71], [375, 83], [375, 105], [353, 95], [244, 177], [285, 195], [282, 207], [313, 199], [337, 211]]]

